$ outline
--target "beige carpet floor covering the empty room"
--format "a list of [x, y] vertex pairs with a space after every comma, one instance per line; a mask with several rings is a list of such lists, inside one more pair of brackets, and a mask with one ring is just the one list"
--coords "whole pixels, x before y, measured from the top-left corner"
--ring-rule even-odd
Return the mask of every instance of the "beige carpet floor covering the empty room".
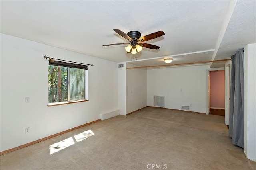
[[[81, 133], [84, 136], [78, 135]], [[68, 147], [64, 148], [64, 142], [55, 144], [63, 140], [69, 141], [70, 146], [65, 144]], [[50, 154], [50, 145], [59, 151]], [[1, 170], [255, 170], [256, 162], [247, 160], [244, 150], [232, 145], [223, 116], [146, 107], [4, 154], [0, 167]]]

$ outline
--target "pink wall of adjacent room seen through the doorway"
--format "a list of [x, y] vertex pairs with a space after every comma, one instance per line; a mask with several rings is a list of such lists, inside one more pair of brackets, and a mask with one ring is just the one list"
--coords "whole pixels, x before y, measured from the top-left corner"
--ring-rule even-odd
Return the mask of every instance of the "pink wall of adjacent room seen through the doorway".
[[210, 107], [225, 108], [225, 72], [210, 71]]

